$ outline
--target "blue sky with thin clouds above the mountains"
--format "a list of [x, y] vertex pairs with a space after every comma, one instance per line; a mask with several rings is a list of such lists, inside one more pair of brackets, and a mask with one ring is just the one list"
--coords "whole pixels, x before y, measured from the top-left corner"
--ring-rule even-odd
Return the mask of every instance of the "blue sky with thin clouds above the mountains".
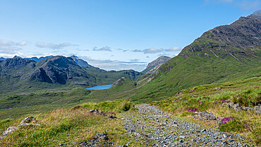
[[261, 0], [0, 0], [0, 57], [76, 55], [100, 69], [142, 71]]

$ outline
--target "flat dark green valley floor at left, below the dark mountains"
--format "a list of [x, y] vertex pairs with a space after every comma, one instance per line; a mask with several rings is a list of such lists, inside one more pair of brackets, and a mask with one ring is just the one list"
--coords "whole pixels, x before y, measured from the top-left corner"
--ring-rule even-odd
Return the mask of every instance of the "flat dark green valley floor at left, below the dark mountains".
[[[0, 118], [17, 117], [28, 113], [47, 112], [59, 107], [73, 107], [85, 100], [90, 94], [85, 88], [61, 90], [44, 93], [30, 93], [24, 95], [6, 96], [0, 100]], [[13, 109], [9, 109], [13, 108]]]

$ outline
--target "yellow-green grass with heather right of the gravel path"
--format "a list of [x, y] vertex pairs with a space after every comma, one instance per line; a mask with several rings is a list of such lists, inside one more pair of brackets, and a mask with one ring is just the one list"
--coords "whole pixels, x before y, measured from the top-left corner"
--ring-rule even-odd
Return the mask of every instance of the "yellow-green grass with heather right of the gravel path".
[[[233, 117], [231, 122], [221, 124], [219, 129], [221, 131], [245, 133], [255, 143], [260, 143], [260, 114], [245, 110], [237, 112], [226, 106], [228, 102], [236, 102], [241, 106], [248, 107], [260, 104], [260, 81], [261, 77], [195, 86], [179, 91], [179, 95], [161, 101], [154, 101], [151, 104], [159, 105], [162, 110], [171, 112], [176, 116], [187, 117], [191, 121], [194, 121], [191, 118], [194, 113], [188, 111], [190, 107], [196, 108], [198, 111], [213, 112], [219, 118]], [[221, 105], [224, 105], [224, 107]], [[212, 126], [218, 127], [216, 122], [212, 123]]]

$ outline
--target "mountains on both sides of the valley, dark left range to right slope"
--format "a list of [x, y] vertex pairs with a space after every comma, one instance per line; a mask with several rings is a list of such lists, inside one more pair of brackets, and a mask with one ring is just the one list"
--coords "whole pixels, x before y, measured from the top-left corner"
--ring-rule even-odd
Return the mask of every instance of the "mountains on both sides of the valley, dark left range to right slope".
[[[259, 77], [260, 24], [261, 13], [256, 11], [230, 25], [208, 30], [184, 47], [178, 56], [172, 59], [159, 57], [142, 73], [133, 70], [104, 71], [75, 56], [38, 59], [41, 61], [20, 57], [6, 59], [0, 61], [0, 90], [1, 93], [13, 93], [71, 89], [111, 84], [121, 78], [121, 84], [94, 92], [92, 98], [102, 95], [149, 102], [169, 98], [184, 88]], [[128, 78], [133, 81], [128, 81]], [[128, 84], [124, 84], [125, 81]]]

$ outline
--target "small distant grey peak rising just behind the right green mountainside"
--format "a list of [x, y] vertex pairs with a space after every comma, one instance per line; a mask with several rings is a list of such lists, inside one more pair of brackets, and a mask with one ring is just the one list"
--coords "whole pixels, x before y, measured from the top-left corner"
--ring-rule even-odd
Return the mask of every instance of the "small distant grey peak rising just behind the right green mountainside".
[[142, 73], [154, 73], [159, 69], [159, 66], [162, 66], [162, 64], [166, 63], [166, 61], [169, 61], [171, 57], [161, 56], [155, 59], [154, 61], [147, 64], [146, 69], [141, 71]]

